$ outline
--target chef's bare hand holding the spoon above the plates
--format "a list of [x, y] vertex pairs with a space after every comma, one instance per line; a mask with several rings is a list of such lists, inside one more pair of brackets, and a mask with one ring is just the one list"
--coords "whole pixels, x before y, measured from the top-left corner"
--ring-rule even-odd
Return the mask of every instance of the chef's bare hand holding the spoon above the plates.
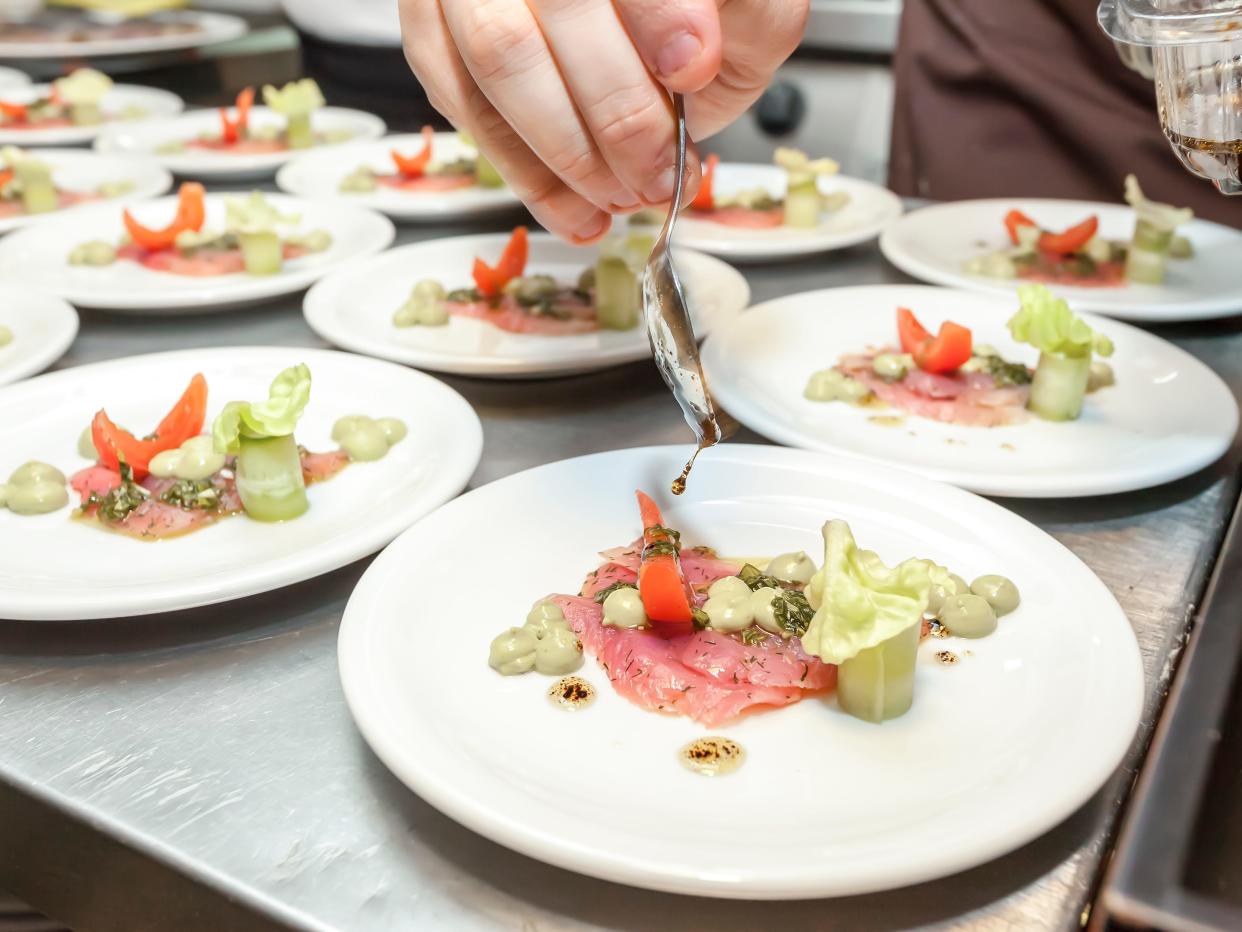
[[[540, 224], [586, 242], [668, 201], [673, 119], [739, 117], [802, 36], [809, 0], [399, 0], [431, 104], [474, 137]], [[698, 188], [693, 163], [688, 195]]]

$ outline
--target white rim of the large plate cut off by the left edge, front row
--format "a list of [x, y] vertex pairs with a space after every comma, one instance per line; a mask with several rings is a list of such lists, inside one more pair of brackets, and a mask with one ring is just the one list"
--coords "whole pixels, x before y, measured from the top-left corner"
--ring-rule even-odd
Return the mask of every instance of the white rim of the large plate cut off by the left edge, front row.
[[[31, 621], [31, 623], [46, 623], [46, 621], [101, 621], [116, 618], [132, 618], [140, 615], [153, 615], [166, 611], [181, 611], [185, 609], [199, 608], [202, 605], [216, 605], [226, 601], [236, 601], [238, 599], [247, 598], [250, 595], [257, 595], [260, 593], [274, 592], [277, 589], [283, 589], [289, 585], [296, 585], [310, 579], [317, 579], [327, 573], [330, 573], [340, 567], [345, 567], [355, 560], [359, 560], [371, 553], [386, 547], [392, 539], [399, 537], [404, 531], [406, 531], [412, 524], [417, 523], [424, 516], [430, 514], [441, 507], [443, 503], [452, 501], [458, 493], [466, 488], [469, 483], [471, 477], [478, 468], [478, 464], [483, 454], [483, 424], [479, 420], [478, 413], [474, 410], [473, 405], [466, 400], [466, 398], [453, 389], [445, 381], [427, 375], [426, 373], [419, 372], [416, 369], [410, 369], [409, 367], [396, 365], [395, 363], [388, 363], [381, 359], [371, 359], [369, 357], [359, 357], [355, 353], [343, 353], [335, 349], [323, 349], [318, 347], [289, 347], [289, 345], [233, 345], [233, 347], [199, 347], [194, 349], [173, 349], [164, 350], [159, 353], [142, 353], [138, 355], [122, 357], [116, 359], [106, 359], [97, 363], [86, 363], [83, 365], [75, 365], [67, 369], [60, 369], [56, 372], [46, 373], [45, 375], [35, 377], [34, 379], [27, 379], [26, 381], [16, 383], [14, 385], [7, 385], [0, 388], [0, 398], [4, 395], [14, 393], [15, 389], [20, 390], [24, 386], [32, 384], [46, 384], [46, 380], [67, 380], [72, 378], [81, 377], [82, 369], [89, 369], [92, 372], [106, 372], [108, 369], [124, 369], [133, 365], [137, 360], [158, 359], [158, 360], [175, 360], [178, 358], [184, 358], [193, 362], [195, 365], [202, 365], [204, 357], [232, 357], [232, 362], [236, 362], [238, 357], [253, 355], [258, 357], [262, 354], [288, 354], [293, 357], [301, 357], [310, 365], [314, 365], [315, 359], [324, 359], [332, 357], [334, 359], [345, 360], [347, 364], [358, 364], [364, 367], [379, 365], [391, 369], [394, 374], [404, 373], [400, 378], [411, 378], [420, 381], [427, 386], [431, 391], [438, 391], [445, 399], [445, 404], [450, 408], [456, 408], [453, 413], [455, 420], [458, 423], [457, 429], [453, 432], [453, 442], [461, 445], [461, 451], [458, 454], [457, 461], [455, 464], [457, 468], [452, 471], [445, 471], [436, 476], [428, 477], [425, 482], [428, 487], [435, 490], [427, 500], [428, 505], [420, 508], [405, 508], [399, 509], [389, 514], [385, 519], [379, 522], [373, 522], [371, 524], [360, 528], [358, 533], [350, 536], [350, 543], [348, 546], [337, 544], [334, 549], [329, 551], [328, 547], [318, 548], [322, 552], [317, 559], [308, 559], [306, 567], [297, 573], [286, 572], [283, 575], [276, 573], [272, 568], [268, 568], [263, 573], [255, 574], [250, 582], [241, 587], [240, 589], [230, 590], [227, 594], [221, 594], [219, 590], [209, 592], [201, 589], [197, 594], [186, 596], [178, 594], [164, 594], [152, 596], [145, 593], [142, 584], [135, 584], [129, 587], [127, 590], [111, 590], [108, 610], [101, 610], [94, 608], [82, 596], [77, 598], [81, 604], [70, 605], [67, 601], [58, 603], [57, 605], [47, 606], [41, 604], [41, 599], [15, 595], [14, 593], [0, 593], [0, 598], [4, 599], [2, 606], [0, 606], [0, 616], [17, 620], [17, 621]], [[435, 503], [438, 502], [438, 503]], [[415, 513], [417, 512], [417, 513]], [[128, 594], [124, 599], [119, 599], [116, 593], [127, 592]], [[98, 600], [96, 600], [98, 601]]]

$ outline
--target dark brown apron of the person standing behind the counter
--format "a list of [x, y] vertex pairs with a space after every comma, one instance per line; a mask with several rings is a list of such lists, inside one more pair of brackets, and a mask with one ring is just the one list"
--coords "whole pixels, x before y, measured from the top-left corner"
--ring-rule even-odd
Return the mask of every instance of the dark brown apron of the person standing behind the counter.
[[1151, 82], [1095, 22], [1097, 0], [905, 0], [889, 185], [898, 194], [1118, 201], [1133, 171], [1155, 200], [1242, 226], [1177, 163]]

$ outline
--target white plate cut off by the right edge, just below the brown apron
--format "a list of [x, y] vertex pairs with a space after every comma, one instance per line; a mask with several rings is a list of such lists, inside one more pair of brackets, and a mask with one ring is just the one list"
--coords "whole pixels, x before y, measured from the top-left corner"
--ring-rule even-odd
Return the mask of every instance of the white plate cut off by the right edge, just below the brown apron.
[[[1099, 235], [1129, 240], [1134, 211], [1120, 204], [1006, 198], [938, 204], [907, 214], [889, 226], [879, 246], [903, 272], [970, 291], [1011, 295], [1020, 282], [966, 275], [963, 263], [1009, 246], [1004, 217], [1021, 210], [1041, 226], [1063, 230], [1089, 215], [1099, 216]], [[1201, 321], [1242, 313], [1242, 230], [1195, 220], [1179, 232], [1190, 237], [1195, 256], [1169, 262], [1164, 285], [1117, 288], [1052, 286], [1081, 311], [1126, 321]]]

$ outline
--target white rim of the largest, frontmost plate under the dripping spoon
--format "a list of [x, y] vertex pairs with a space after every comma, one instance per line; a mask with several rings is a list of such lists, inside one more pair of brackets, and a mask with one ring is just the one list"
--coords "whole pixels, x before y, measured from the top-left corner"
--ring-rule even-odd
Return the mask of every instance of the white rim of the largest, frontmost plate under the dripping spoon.
[[[1001, 505], [990, 502], [986, 498], [965, 490], [946, 486], [920, 476], [914, 476], [913, 473], [907, 473], [892, 466], [882, 466], [877, 468], [869, 464], [862, 464], [857, 460], [833, 460], [822, 454], [779, 446], [729, 444], [723, 449], [735, 456], [751, 457], [751, 466], [756, 465], [756, 462], [766, 460], [776, 461], [777, 465], [780, 465], [781, 460], [786, 460], [791, 465], [797, 465], [797, 462], [801, 461], [802, 465], [809, 466], [818, 464], [830, 475], [843, 467], [850, 472], [856, 472], [857, 477], [866, 475], [871, 480], [876, 480], [878, 477], [884, 482], [899, 482], [907, 486], [913, 485], [915, 486], [914, 491], [922, 488], [927, 496], [938, 496], [940, 500], [948, 498], [950, 503], [953, 498], [959, 498], [959, 501], [970, 500], [979, 507], [987, 511], [995, 509], [999, 516], [1004, 516], [1006, 522], [1012, 521], [1026, 526], [1027, 529], [1043, 538], [1067, 559], [1077, 563], [1084, 572], [1084, 582], [1095, 587], [1099, 594], [1108, 600], [1113, 608], [1115, 608], [1114, 621], [1120, 625], [1118, 629], [1119, 635], [1123, 631], [1129, 635], [1129, 637], [1124, 639], [1124, 645], [1130, 655], [1129, 660], [1125, 661], [1130, 670], [1128, 674], [1129, 682], [1126, 683], [1130, 695], [1128, 697], [1126, 708], [1124, 710], [1125, 715], [1123, 716], [1120, 712], [1118, 713], [1118, 720], [1120, 721], [1124, 717], [1128, 726], [1124, 731], [1119, 729], [1117, 734], [1112, 736], [1107, 753], [1100, 754], [1095, 767], [1090, 769], [1090, 774], [1084, 778], [1082, 772], [1079, 772], [1074, 788], [1064, 792], [1058, 798], [1057, 804], [1046, 806], [1046, 811], [1043, 811], [1040, 818], [1028, 818], [1026, 824], [1023, 824], [1020, 830], [1015, 831], [1006, 839], [994, 839], [991, 844], [976, 844], [975, 847], [965, 856], [960, 852], [948, 854], [940, 860], [924, 862], [918, 869], [895, 874], [894, 876], [879, 882], [862, 885], [850, 884], [847, 887], [840, 889], [833, 887], [831, 881], [823, 882], [822, 880], [821, 882], [802, 882], [787, 886], [774, 885], [768, 889], [733, 886], [729, 881], [720, 881], [703, 876], [694, 879], [682, 876], [676, 880], [668, 880], [666, 875], [645, 871], [625, 859], [614, 857], [610, 860], [610, 855], [606, 854], [606, 846], [604, 845], [600, 845], [594, 851], [587, 852], [581, 847], [574, 847], [569, 843], [558, 841], [554, 836], [546, 834], [532, 835], [528, 829], [519, 826], [504, 814], [479, 808], [477, 805], [477, 800], [467, 800], [465, 798], [455, 797], [451, 792], [446, 792], [448, 790], [448, 780], [442, 779], [438, 782], [441, 785], [436, 785], [436, 779], [427, 777], [427, 770], [430, 768], [424, 768], [422, 773], [411, 775], [411, 773], [406, 770], [406, 762], [395, 759], [395, 756], [391, 753], [391, 746], [385, 739], [381, 733], [383, 729], [378, 724], [381, 716], [373, 716], [370, 713], [374, 703], [380, 702], [380, 700], [373, 696], [373, 681], [371, 677], [366, 675], [364, 662], [366, 654], [366, 624], [369, 620], [365, 615], [366, 611], [371, 610], [370, 603], [378, 598], [378, 592], [383, 584], [381, 574], [386, 572], [390, 562], [397, 559], [397, 557], [391, 554], [399, 553], [400, 541], [416, 534], [422, 522], [416, 523], [404, 532], [396, 541], [392, 542], [392, 544], [380, 553], [370, 567], [366, 568], [366, 572], [359, 579], [354, 592], [350, 594], [349, 601], [342, 615], [337, 637], [338, 677], [340, 680], [342, 691], [345, 696], [345, 703], [349, 708], [350, 717], [354, 721], [354, 726], [366, 741], [368, 747], [373, 753], [375, 753], [376, 757], [380, 758], [390, 773], [407, 789], [416, 793], [426, 803], [460, 825], [463, 825], [471, 831], [503, 845], [509, 850], [534, 857], [546, 864], [551, 864], [576, 874], [641, 889], [693, 896], [748, 900], [796, 900], [807, 897], [850, 896], [854, 893], [899, 889], [949, 876], [951, 874], [992, 861], [996, 857], [1001, 857], [1010, 851], [1017, 850], [1031, 840], [1040, 838], [1052, 830], [1056, 825], [1061, 824], [1064, 819], [1069, 818], [1081, 806], [1086, 805], [1092, 797], [1099, 792], [1100, 787], [1113, 778], [1118, 767], [1124, 762], [1125, 754], [1133, 744], [1138, 726], [1141, 722], [1143, 708], [1145, 705], [1146, 674], [1143, 667], [1141, 650], [1134, 634], [1133, 624], [1129, 621], [1128, 615], [1118, 603], [1117, 596], [1113, 595], [1113, 592], [1104, 584], [1104, 582], [1099, 579], [1099, 577], [1068, 547], [1033, 522], [1022, 518]], [[435, 512], [428, 513], [428, 517], [446, 508], [452, 508], [455, 511], [461, 509], [466, 506], [458, 505], [460, 502], [468, 502], [472, 497], [491, 488], [491, 486], [508, 482], [510, 480], [517, 481], [520, 477], [525, 477], [528, 473], [538, 472], [549, 467], [563, 466], [565, 464], [581, 464], [582, 461], [600, 457], [648, 457], [661, 455], [671, 457], [674, 462], [679, 464], [681, 460], [678, 457], [684, 459], [684, 449], [677, 445], [627, 447], [605, 452], [586, 454], [584, 456], [558, 460], [551, 464], [543, 464], [528, 470], [522, 470], [520, 472], [510, 473], [509, 476], [504, 476], [484, 486], [471, 490], [469, 492], [466, 492], [465, 495], [461, 495], [451, 502], [441, 506]], [[876, 485], [876, 482], [872, 481], [871, 485]], [[473, 811], [471, 811], [472, 806], [469, 803], [474, 803]]]

